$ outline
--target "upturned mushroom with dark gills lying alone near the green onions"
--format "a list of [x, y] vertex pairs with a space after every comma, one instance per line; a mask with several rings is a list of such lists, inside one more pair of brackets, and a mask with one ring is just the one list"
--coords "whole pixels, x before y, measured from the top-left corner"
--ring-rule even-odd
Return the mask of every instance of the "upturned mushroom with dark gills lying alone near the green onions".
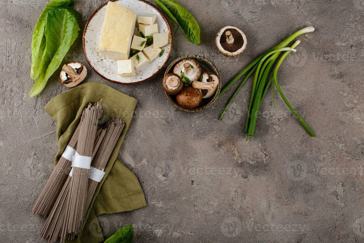
[[218, 51], [228, 57], [241, 54], [245, 50], [247, 43], [244, 32], [233, 25], [226, 25], [220, 29], [215, 38], [215, 45]]

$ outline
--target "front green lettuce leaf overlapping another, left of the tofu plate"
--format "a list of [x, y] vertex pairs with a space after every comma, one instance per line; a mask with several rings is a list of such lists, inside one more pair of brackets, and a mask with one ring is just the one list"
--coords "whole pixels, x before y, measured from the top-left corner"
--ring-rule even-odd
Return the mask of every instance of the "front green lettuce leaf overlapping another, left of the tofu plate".
[[29, 92], [30, 97], [36, 96], [44, 89], [48, 79], [76, 40], [80, 31], [78, 19], [79, 13], [69, 7], [55, 8], [48, 12], [44, 28], [46, 47], [39, 66], [38, 79]]

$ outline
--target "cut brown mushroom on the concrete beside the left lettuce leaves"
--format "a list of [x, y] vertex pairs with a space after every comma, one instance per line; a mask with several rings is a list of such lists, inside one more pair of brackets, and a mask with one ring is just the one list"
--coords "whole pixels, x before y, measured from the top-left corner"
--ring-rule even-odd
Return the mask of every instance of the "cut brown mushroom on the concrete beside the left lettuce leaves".
[[85, 65], [78, 62], [68, 63], [63, 65], [59, 79], [64, 86], [72, 88], [81, 83], [86, 75], [87, 69]]

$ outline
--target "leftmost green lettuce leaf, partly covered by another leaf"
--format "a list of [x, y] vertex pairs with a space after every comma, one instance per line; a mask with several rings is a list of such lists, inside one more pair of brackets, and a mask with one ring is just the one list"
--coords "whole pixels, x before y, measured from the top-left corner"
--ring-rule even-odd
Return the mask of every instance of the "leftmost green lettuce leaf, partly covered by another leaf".
[[40, 14], [33, 31], [32, 39], [32, 68], [30, 71], [30, 76], [32, 79], [36, 79], [39, 75], [39, 67], [42, 60], [44, 48], [46, 47], [44, 27], [46, 25], [47, 13], [56, 7], [73, 7], [73, 5], [74, 0], [52, 0], [50, 3], [47, 4], [43, 12]]

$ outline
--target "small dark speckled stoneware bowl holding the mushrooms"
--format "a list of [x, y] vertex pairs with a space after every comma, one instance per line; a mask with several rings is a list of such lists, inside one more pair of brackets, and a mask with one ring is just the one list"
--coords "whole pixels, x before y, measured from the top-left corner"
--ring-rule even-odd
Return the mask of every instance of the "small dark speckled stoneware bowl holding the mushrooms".
[[194, 109], [186, 109], [181, 107], [181, 105], [179, 105], [176, 101], [176, 95], [169, 95], [166, 92], [166, 96], [168, 98], [168, 100], [178, 109], [182, 110], [182, 111], [186, 111], [186, 112], [198, 112], [198, 111], [202, 111], [204, 109], [209, 108], [217, 99], [217, 96], [220, 93], [221, 90], [221, 77], [220, 77], [220, 73], [217, 70], [217, 68], [215, 67], [215, 65], [207, 58], [203, 57], [203, 56], [197, 56], [197, 55], [187, 55], [187, 56], [181, 56], [179, 58], [177, 58], [176, 60], [174, 60], [168, 67], [166, 72], [164, 73], [164, 76], [166, 76], [168, 73], [172, 73], [173, 72], [173, 68], [174, 65], [176, 65], [179, 61], [181, 61], [182, 59], [185, 58], [193, 58], [196, 61], [198, 61], [198, 63], [201, 66], [202, 72], [212, 72], [215, 73], [217, 75], [217, 77], [219, 78], [219, 84], [217, 85], [217, 89], [216, 92], [214, 94], [214, 96], [211, 96], [210, 98], [206, 98], [206, 99], [202, 99], [201, 104]]

